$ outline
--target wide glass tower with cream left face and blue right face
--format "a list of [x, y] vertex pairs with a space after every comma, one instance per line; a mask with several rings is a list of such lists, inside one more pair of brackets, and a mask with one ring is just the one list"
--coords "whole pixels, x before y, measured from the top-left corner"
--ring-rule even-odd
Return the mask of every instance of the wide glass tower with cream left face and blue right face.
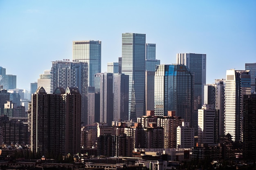
[[88, 63], [88, 86], [94, 87], [94, 75], [101, 73], [101, 41], [73, 41], [73, 61]]

